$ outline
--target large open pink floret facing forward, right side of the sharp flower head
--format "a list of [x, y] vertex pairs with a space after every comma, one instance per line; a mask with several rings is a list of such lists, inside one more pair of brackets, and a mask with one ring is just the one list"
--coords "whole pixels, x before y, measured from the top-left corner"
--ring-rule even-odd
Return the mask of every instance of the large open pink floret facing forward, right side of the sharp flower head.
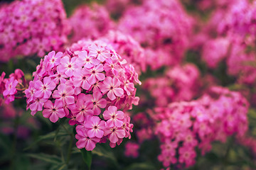
[[107, 97], [113, 101], [117, 98], [116, 96], [122, 96], [124, 94], [124, 90], [119, 88], [120, 85], [121, 83], [116, 77], [113, 79], [111, 77], [107, 77], [100, 86], [100, 91], [102, 91], [103, 94], [106, 94], [108, 91]]

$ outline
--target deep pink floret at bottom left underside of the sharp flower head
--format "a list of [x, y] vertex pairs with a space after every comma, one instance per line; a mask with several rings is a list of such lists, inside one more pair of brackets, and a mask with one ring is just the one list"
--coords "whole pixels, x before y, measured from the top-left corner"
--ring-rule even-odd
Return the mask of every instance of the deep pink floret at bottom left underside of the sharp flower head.
[[58, 118], [65, 116], [62, 101], [55, 101], [54, 105], [51, 101], [46, 101], [43, 107], [43, 117], [49, 118], [53, 123], [57, 122]]

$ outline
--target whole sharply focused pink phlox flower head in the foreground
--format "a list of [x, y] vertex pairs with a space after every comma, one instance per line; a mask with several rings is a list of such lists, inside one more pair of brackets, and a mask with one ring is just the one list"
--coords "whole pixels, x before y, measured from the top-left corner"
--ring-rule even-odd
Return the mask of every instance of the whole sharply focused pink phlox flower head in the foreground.
[[[77, 125], [78, 148], [92, 150], [110, 140], [115, 147], [131, 137], [133, 125], [124, 113], [137, 105], [138, 74], [100, 40], [81, 40], [63, 52], [49, 52], [26, 89], [27, 108], [55, 123], [70, 118]], [[122, 111], [121, 111], [122, 110]]]

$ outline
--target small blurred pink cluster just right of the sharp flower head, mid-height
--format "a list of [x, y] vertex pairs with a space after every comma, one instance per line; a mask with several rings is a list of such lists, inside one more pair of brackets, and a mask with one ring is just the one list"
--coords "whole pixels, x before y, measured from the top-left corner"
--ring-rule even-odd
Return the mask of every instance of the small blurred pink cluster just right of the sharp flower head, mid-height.
[[194, 64], [168, 69], [163, 77], [146, 79], [143, 89], [149, 91], [156, 106], [167, 106], [174, 101], [190, 101], [198, 94], [200, 73]]

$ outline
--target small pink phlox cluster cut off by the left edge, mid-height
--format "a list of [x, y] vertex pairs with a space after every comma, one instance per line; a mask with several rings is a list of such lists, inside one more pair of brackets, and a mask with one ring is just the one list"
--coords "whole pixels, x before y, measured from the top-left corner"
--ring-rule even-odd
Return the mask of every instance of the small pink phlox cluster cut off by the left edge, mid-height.
[[23, 96], [23, 89], [26, 86], [26, 79], [21, 69], [16, 69], [14, 73], [9, 75], [9, 78], [5, 79], [5, 75], [5, 72], [2, 72], [0, 77], [0, 106], [2, 101], [1, 95], [5, 103], [10, 103], [15, 98]]

